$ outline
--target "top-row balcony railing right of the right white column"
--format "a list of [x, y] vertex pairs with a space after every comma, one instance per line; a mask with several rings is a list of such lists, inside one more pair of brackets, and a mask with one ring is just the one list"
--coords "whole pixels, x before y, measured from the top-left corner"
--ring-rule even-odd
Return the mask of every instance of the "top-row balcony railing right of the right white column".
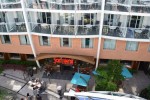
[[105, 10], [121, 12], [149, 13], [149, 0], [109, 0], [105, 4]]

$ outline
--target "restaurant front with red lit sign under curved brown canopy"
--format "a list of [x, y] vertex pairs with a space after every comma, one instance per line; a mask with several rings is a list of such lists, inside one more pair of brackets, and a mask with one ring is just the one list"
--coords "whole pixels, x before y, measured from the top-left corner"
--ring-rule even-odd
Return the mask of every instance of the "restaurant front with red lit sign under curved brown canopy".
[[62, 54], [40, 54], [36, 60], [40, 65], [53, 67], [57, 71], [80, 71], [90, 73], [94, 69], [94, 57]]

